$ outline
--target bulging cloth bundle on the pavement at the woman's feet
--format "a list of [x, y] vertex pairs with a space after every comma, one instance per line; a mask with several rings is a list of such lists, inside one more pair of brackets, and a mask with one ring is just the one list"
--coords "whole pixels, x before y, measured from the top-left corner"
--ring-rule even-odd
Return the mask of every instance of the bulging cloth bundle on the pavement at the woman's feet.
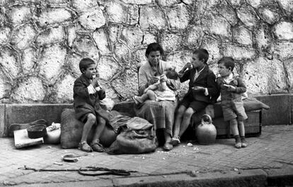
[[118, 135], [105, 150], [108, 154], [139, 154], [156, 150], [154, 126], [146, 119], [121, 115], [112, 125], [118, 129]]

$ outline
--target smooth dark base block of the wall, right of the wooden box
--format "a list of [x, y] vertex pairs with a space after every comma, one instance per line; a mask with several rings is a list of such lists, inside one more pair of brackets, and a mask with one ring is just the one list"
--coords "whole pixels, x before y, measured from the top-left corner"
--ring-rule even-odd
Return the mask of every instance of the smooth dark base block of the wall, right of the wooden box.
[[267, 126], [289, 124], [289, 95], [263, 95], [255, 98], [270, 107], [262, 111], [263, 124]]

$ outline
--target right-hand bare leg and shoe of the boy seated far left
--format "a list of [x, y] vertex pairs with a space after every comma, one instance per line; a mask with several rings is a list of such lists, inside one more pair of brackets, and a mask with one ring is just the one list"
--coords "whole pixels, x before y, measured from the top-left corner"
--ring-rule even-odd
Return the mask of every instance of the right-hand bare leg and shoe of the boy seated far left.
[[104, 147], [100, 144], [100, 134], [104, 131], [105, 128], [105, 119], [101, 116], [97, 116], [97, 127], [95, 129], [95, 134], [93, 135], [93, 140], [91, 141], [91, 147], [96, 152], [103, 152]]

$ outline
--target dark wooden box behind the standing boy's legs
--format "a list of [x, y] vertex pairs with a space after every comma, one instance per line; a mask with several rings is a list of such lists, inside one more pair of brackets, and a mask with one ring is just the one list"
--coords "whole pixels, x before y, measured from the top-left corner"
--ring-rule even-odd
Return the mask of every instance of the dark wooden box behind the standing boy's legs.
[[[255, 137], [261, 134], [261, 110], [246, 111], [248, 119], [244, 121], [246, 137]], [[213, 119], [214, 126], [217, 128], [217, 138], [231, 138], [233, 137], [230, 130], [229, 121], [217, 118]]]

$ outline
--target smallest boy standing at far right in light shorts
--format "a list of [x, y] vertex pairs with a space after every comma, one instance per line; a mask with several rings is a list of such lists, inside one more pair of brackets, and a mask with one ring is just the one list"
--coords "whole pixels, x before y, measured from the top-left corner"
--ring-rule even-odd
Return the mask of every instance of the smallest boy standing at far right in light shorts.
[[[234, 59], [224, 56], [218, 61], [221, 77], [217, 78], [218, 89], [221, 90], [221, 106], [224, 121], [229, 121], [231, 131], [236, 140], [235, 147], [247, 147], [245, 140], [244, 120], [247, 119], [241, 95], [246, 92], [243, 80], [233, 73]], [[240, 136], [239, 136], [240, 134]]]

